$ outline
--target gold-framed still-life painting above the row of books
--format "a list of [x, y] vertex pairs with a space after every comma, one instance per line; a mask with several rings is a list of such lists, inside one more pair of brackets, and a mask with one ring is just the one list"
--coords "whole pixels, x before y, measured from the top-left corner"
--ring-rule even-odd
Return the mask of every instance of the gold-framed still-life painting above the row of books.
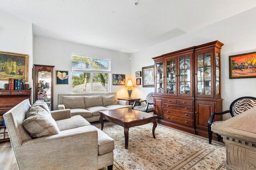
[[28, 81], [28, 55], [0, 51], [0, 80]]

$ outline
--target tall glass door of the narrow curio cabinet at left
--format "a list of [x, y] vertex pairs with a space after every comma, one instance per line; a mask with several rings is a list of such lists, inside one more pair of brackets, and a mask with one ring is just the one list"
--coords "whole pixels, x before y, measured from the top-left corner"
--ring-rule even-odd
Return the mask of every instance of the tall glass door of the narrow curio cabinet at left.
[[52, 73], [46, 71], [38, 71], [37, 82], [37, 100], [43, 100], [48, 105], [49, 109], [52, 108]]

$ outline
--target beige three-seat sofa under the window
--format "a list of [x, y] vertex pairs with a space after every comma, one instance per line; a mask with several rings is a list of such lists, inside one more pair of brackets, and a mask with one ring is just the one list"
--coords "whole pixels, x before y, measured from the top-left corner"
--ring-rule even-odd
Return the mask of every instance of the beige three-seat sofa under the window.
[[[111, 95], [115, 97], [108, 99], [107, 96]], [[126, 100], [117, 100], [116, 93], [58, 94], [58, 110], [70, 109], [71, 116], [81, 115], [89, 122], [99, 121], [99, 111], [102, 110], [132, 109], [128, 103]]]

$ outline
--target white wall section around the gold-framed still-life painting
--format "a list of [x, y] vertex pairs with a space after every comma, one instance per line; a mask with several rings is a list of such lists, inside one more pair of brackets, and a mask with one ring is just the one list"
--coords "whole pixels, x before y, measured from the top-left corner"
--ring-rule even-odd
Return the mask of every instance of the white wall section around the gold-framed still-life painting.
[[[32, 23], [0, 15], [0, 51], [28, 54], [28, 84], [32, 87], [33, 66]], [[0, 88], [8, 81], [0, 81]]]

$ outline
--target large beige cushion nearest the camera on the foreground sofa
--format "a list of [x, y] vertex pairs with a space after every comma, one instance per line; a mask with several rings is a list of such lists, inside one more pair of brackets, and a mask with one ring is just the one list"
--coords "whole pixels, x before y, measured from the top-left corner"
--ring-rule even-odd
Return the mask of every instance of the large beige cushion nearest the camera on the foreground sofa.
[[23, 121], [23, 126], [32, 138], [60, 133], [52, 116], [40, 106], [29, 109], [28, 113], [26, 113], [26, 119]]

